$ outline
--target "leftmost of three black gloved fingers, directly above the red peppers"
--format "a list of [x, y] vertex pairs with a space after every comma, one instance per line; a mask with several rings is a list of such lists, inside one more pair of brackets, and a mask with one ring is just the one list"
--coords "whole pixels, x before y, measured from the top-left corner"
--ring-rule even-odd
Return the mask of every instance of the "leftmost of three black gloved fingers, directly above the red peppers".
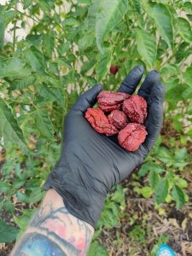
[[133, 94], [136, 90], [137, 85], [143, 77], [144, 68], [143, 66], [134, 67], [130, 73], [126, 76], [119, 88], [119, 92], [125, 92], [127, 94]]

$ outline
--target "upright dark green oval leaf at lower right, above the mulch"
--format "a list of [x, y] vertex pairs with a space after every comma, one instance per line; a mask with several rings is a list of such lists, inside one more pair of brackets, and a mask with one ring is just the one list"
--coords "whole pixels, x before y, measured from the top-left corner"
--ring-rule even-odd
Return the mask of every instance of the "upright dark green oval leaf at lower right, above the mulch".
[[168, 195], [169, 183], [166, 177], [160, 179], [160, 182], [157, 184], [156, 192], [155, 192], [155, 202], [160, 205], [160, 203], [164, 202], [166, 199], [166, 195]]

